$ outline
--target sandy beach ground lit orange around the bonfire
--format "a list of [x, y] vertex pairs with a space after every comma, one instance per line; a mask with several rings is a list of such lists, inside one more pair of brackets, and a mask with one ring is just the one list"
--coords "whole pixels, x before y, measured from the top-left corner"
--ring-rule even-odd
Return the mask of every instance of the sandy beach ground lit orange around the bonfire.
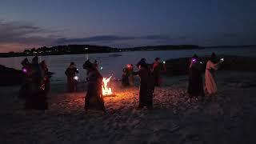
[[22, 110], [18, 86], [0, 87], [0, 143], [255, 143], [256, 74], [218, 71], [218, 94], [188, 102], [187, 77], [165, 78], [154, 110], [137, 110], [138, 86], [114, 82], [107, 114], [83, 109], [86, 90], [68, 94], [54, 84], [49, 110]]

